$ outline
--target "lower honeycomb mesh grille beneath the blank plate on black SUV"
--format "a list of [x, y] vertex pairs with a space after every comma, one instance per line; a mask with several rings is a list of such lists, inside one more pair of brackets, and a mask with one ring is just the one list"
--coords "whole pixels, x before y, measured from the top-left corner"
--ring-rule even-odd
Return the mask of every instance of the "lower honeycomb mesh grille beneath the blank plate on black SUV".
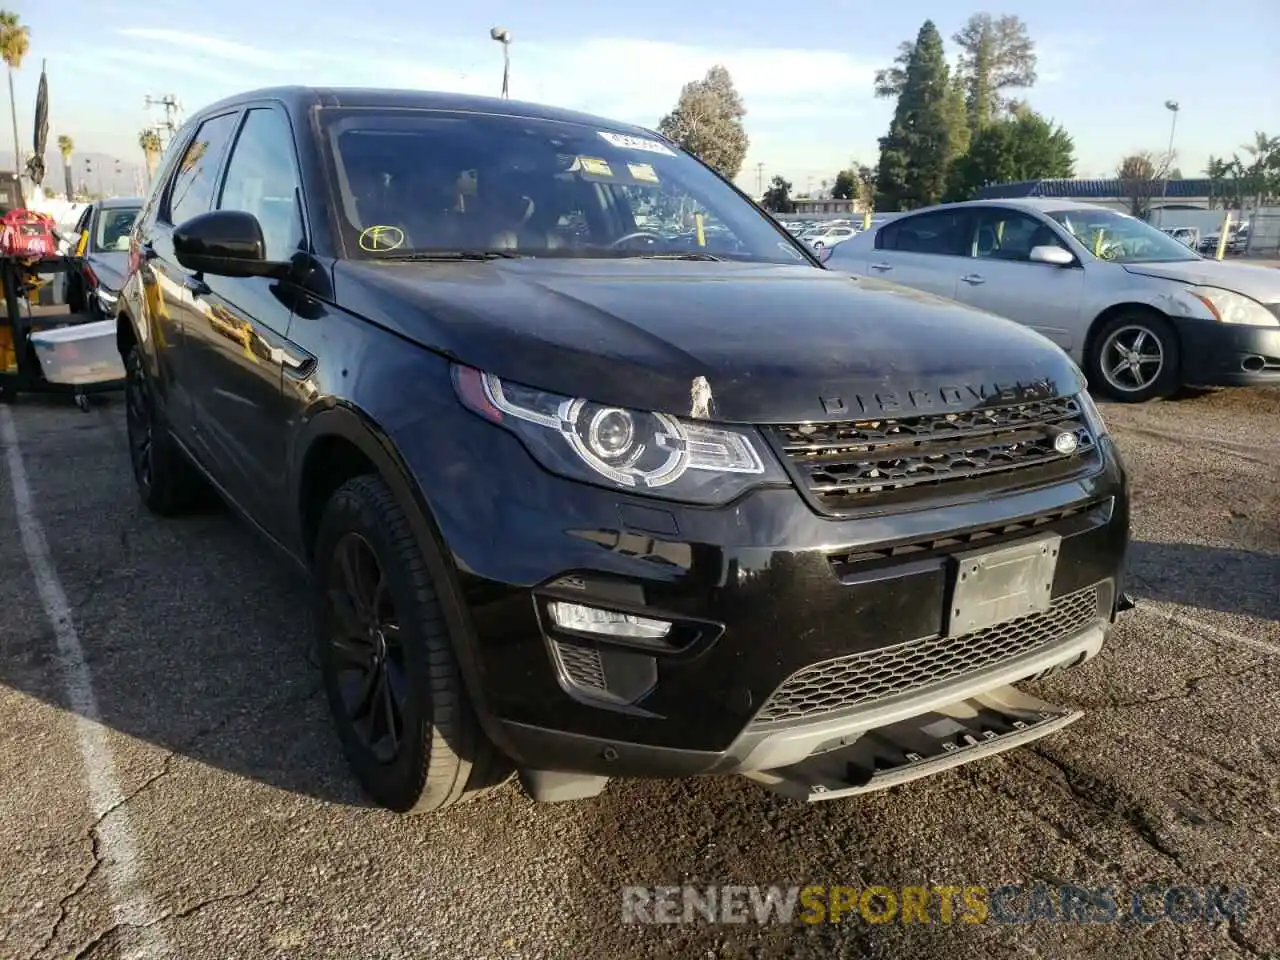
[[1028, 613], [972, 634], [910, 640], [817, 663], [773, 691], [755, 722], [812, 719], [915, 692], [1030, 653], [1097, 618], [1098, 588], [1089, 586], [1060, 596], [1043, 613]]

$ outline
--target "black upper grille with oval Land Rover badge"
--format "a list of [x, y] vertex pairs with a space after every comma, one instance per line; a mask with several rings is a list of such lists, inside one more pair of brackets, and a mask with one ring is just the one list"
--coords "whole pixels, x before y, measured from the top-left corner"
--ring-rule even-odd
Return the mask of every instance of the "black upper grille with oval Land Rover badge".
[[[1060, 453], [1059, 434], [1075, 436]], [[896, 420], [772, 428], [813, 502], [824, 512], [901, 504], [947, 492], [998, 493], [1051, 483], [1097, 462], [1097, 444], [1074, 397]]]

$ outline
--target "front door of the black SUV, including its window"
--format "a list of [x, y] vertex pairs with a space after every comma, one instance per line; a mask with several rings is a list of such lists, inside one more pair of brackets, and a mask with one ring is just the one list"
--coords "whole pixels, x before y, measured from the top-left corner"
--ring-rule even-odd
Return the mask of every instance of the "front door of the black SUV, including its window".
[[[287, 261], [306, 247], [293, 134], [271, 106], [244, 113], [214, 209], [253, 214], [268, 260]], [[292, 284], [261, 276], [198, 278], [196, 310], [184, 328], [193, 415], [211, 449], [216, 479], [255, 522], [276, 539], [291, 517], [285, 494], [285, 365]]]

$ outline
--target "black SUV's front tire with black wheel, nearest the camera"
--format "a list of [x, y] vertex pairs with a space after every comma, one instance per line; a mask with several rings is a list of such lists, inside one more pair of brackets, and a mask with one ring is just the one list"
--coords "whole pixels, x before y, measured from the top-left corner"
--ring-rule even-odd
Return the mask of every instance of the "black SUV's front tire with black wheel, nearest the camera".
[[329, 499], [314, 561], [320, 669], [343, 753], [369, 796], [403, 814], [511, 777], [467, 696], [422, 549], [387, 484], [365, 475]]

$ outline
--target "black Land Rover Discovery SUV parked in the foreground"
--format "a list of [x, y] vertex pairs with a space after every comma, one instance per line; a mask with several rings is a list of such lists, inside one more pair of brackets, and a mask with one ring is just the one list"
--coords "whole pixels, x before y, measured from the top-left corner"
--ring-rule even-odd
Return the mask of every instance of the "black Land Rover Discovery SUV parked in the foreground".
[[837, 796], [1079, 716], [1011, 686], [1123, 605], [1125, 472], [1079, 370], [824, 270], [649, 131], [246, 93], [186, 124], [132, 257], [142, 499], [211, 485], [311, 572], [338, 733], [392, 809], [513, 769], [540, 800]]

